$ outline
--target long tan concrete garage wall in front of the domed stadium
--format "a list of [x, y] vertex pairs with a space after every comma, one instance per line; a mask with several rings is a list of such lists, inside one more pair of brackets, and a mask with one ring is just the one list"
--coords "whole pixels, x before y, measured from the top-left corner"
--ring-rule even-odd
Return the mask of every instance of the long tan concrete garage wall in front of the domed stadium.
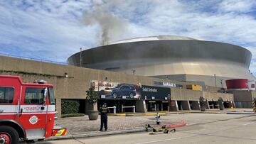
[[[65, 73], [67, 73], [69, 77], [65, 77]], [[136, 76], [122, 72], [93, 70], [84, 67], [57, 65], [48, 62], [23, 60], [3, 56], [0, 56], [0, 74], [20, 75], [23, 82], [26, 83], [31, 83], [35, 79], [45, 79], [48, 83], [53, 84], [59, 117], [61, 114], [61, 99], [85, 99], [85, 91], [89, 89], [91, 80], [105, 81], [107, 77], [108, 82], [125, 82], [130, 84], [140, 83], [144, 85], [152, 85], [154, 84], [154, 81], [172, 82], [183, 84], [184, 86], [188, 84], [185, 82], [176, 82], [155, 77]], [[222, 96], [223, 99], [228, 99], [229, 101], [233, 100], [233, 94], [193, 91], [186, 89], [186, 87], [183, 87], [183, 89], [171, 88], [171, 100], [198, 101], [200, 96], [205, 96], [206, 99], [218, 99], [219, 96]], [[144, 111], [144, 107], [145, 106], [139, 107], [138, 111]], [[85, 104], [85, 109], [89, 109], [87, 104]]]

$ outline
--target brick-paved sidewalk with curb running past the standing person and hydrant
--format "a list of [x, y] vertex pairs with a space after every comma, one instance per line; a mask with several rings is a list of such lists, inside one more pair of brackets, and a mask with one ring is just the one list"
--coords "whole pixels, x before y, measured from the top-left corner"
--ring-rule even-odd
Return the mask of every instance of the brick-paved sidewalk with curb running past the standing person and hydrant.
[[[220, 111], [218, 109], [202, 111], [171, 111], [169, 113], [161, 113], [161, 125], [171, 125], [174, 127], [186, 126], [186, 123], [190, 125], [194, 123], [195, 119], [201, 118], [205, 113], [207, 116], [209, 114], [225, 114], [225, 113], [237, 113], [245, 114], [245, 111], [250, 111], [250, 109], [225, 109]], [[244, 112], [244, 113], [241, 113]], [[187, 114], [186, 114], [187, 113]], [[189, 113], [193, 114], [190, 115]], [[197, 114], [198, 113], [198, 114]], [[252, 112], [247, 112], [252, 113]], [[63, 139], [63, 138], [85, 138], [90, 136], [99, 135], [113, 135], [120, 133], [132, 133], [145, 131], [145, 125], [155, 125], [156, 124], [156, 113], [121, 113], [115, 116], [108, 116], [108, 130], [100, 132], [100, 116], [97, 121], [90, 121], [88, 116], [82, 117], [71, 117], [71, 118], [59, 118], [55, 121], [56, 124], [64, 126], [68, 129], [68, 135], [61, 137], [51, 137], [48, 140]], [[188, 121], [190, 117], [193, 117], [193, 121]], [[196, 117], [194, 117], [196, 116]], [[214, 118], [214, 117], [213, 117]], [[185, 120], [185, 121], [183, 121]], [[201, 119], [200, 119], [201, 121]]]

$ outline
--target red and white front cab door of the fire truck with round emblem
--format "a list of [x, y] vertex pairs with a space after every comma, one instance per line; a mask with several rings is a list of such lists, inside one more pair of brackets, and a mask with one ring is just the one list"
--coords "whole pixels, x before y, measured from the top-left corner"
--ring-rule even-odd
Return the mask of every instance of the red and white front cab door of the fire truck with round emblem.
[[[46, 113], [44, 88], [24, 87], [21, 96], [19, 123], [26, 131], [26, 139], [46, 138]], [[47, 94], [47, 93], [46, 93]]]

